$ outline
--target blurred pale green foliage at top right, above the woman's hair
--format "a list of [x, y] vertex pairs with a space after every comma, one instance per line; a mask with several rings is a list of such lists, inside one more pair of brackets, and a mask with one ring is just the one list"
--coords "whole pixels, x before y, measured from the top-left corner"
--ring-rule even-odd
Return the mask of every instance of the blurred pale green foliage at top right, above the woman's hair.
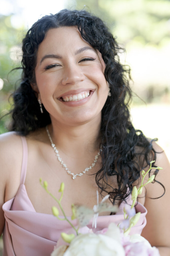
[[127, 44], [135, 37], [143, 44], [160, 44], [169, 38], [170, 1], [167, 0], [74, 0], [75, 8], [104, 19], [118, 37]]

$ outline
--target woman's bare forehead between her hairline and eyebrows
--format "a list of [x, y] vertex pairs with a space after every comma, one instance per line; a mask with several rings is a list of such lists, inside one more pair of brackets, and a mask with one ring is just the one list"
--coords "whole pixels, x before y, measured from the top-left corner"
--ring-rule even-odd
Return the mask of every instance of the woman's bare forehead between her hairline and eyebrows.
[[38, 55], [63, 52], [74, 53], [80, 47], [90, 46], [80, 35], [77, 27], [60, 27], [47, 31], [44, 40], [39, 45]]

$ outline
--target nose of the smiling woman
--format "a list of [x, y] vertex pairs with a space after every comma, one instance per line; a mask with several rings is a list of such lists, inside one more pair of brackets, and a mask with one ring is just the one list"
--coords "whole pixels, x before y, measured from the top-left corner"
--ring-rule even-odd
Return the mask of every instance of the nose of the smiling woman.
[[85, 76], [82, 73], [81, 68], [76, 65], [70, 65], [69, 67], [65, 67], [62, 84], [75, 84], [83, 81], [84, 79]]

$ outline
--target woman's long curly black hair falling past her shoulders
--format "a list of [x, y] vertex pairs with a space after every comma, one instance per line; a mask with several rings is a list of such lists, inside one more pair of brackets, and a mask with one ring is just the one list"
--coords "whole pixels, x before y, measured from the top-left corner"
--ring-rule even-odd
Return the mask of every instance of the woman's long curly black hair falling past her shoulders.
[[100, 192], [106, 191], [108, 177], [116, 176], [118, 186], [115, 188], [109, 185], [110, 198], [114, 204], [115, 200], [126, 200], [132, 191], [132, 184], [139, 180], [141, 170], [156, 159], [156, 152], [152, 141], [149, 142], [140, 130], [135, 130], [130, 121], [130, 69], [120, 64], [118, 53], [124, 49], [119, 47], [100, 18], [85, 10], [64, 9], [55, 15], [42, 17], [28, 30], [22, 46], [22, 81], [13, 93], [11, 130], [27, 135], [51, 123], [44, 107], [41, 114], [30, 83], [36, 82], [34, 68], [39, 44], [49, 29], [63, 26], [76, 26], [81, 37], [99, 50], [105, 62], [104, 75], [110, 84], [111, 97], [107, 98], [102, 109], [102, 168], [95, 175]]

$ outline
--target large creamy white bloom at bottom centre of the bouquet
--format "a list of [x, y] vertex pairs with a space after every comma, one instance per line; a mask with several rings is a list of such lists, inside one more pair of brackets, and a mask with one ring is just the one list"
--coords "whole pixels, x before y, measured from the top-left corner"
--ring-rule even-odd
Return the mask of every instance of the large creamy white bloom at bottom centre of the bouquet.
[[125, 256], [121, 243], [102, 234], [80, 234], [74, 238], [63, 256]]

